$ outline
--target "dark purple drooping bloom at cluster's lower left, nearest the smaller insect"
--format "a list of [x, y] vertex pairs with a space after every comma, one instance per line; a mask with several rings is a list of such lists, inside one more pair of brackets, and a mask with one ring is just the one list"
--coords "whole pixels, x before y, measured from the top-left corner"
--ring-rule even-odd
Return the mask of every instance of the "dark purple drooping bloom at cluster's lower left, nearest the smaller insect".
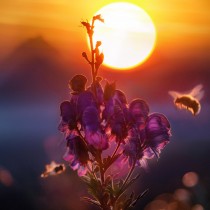
[[67, 138], [67, 151], [63, 159], [69, 162], [73, 170], [77, 170], [79, 176], [86, 174], [89, 156], [87, 147], [80, 136], [69, 136]]

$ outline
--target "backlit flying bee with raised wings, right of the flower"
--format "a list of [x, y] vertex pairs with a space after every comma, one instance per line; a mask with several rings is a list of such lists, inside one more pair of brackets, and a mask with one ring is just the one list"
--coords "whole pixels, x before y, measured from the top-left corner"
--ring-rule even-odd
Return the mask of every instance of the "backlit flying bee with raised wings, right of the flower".
[[179, 109], [187, 109], [193, 115], [199, 114], [201, 110], [200, 100], [204, 96], [203, 85], [196, 85], [192, 90], [187, 93], [178, 93], [176, 91], [169, 91], [169, 95], [174, 98], [174, 104]]

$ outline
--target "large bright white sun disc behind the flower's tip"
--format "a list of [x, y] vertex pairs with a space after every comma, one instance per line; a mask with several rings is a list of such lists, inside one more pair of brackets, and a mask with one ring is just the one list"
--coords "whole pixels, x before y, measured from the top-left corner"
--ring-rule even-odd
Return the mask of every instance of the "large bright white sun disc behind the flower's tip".
[[142, 64], [152, 53], [156, 30], [150, 16], [131, 3], [111, 3], [102, 7], [104, 23], [96, 22], [94, 41], [102, 41], [104, 65], [128, 70]]

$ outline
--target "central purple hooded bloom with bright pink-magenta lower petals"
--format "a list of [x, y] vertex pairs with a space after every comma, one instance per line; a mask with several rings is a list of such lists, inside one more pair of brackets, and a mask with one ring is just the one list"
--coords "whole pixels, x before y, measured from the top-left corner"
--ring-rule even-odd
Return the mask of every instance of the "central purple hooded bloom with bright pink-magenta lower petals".
[[98, 150], [108, 148], [108, 138], [101, 129], [98, 109], [94, 106], [87, 107], [83, 113], [82, 125], [85, 130], [85, 139], [89, 145]]

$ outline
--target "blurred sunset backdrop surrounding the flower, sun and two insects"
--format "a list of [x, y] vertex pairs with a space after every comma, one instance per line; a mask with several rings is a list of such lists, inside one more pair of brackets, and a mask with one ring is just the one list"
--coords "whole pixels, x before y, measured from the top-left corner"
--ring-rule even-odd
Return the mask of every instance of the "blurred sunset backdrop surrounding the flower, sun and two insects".
[[[85, 185], [68, 167], [40, 178], [52, 160], [63, 163], [57, 130], [59, 105], [69, 99], [68, 81], [90, 69], [80, 21], [117, 1], [0, 1], [0, 203], [2, 210], [93, 209], [80, 200]], [[135, 3], [157, 30], [151, 57], [129, 71], [105, 66], [100, 75], [117, 82], [130, 102], [140, 97], [151, 112], [165, 114], [172, 138], [158, 161], [142, 170], [137, 192], [149, 188], [136, 209], [210, 209], [210, 2], [149, 0]], [[203, 84], [201, 112], [177, 110], [169, 90]]]

